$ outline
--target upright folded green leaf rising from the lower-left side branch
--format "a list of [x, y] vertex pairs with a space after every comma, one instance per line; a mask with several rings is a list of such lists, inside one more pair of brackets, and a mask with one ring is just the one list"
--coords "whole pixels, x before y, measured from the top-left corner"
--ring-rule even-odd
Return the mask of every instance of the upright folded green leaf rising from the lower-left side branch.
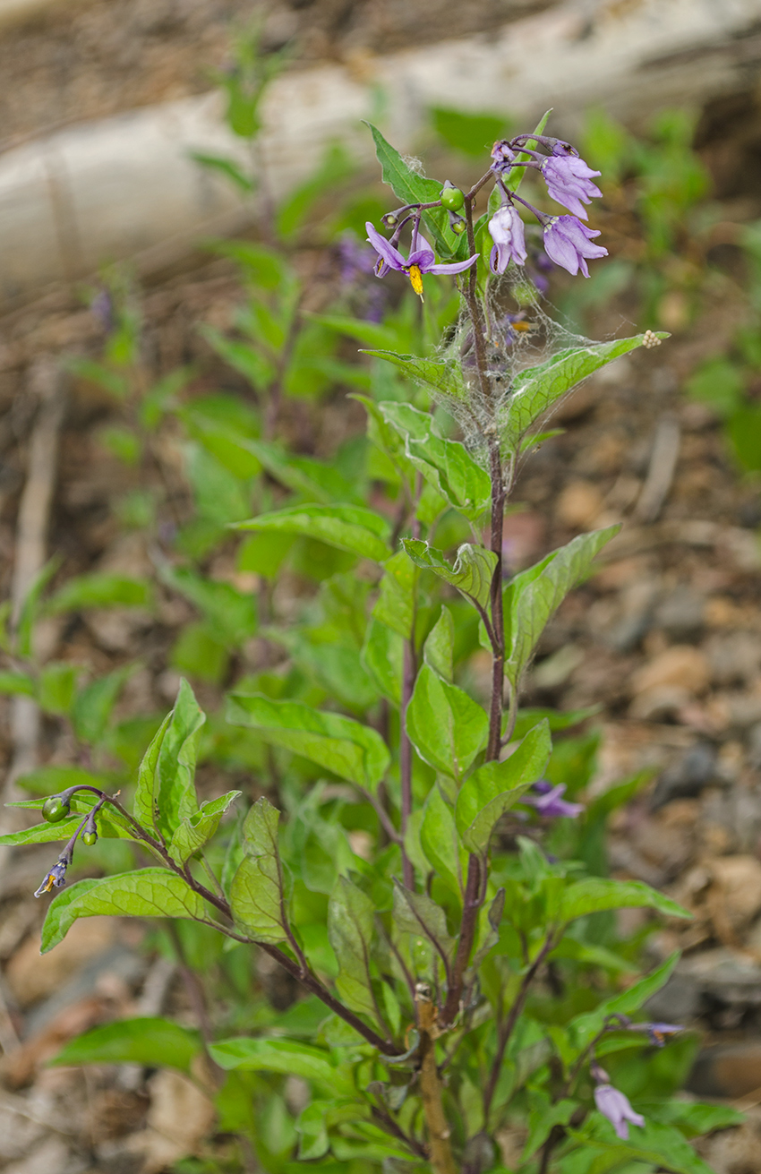
[[171, 842], [182, 821], [198, 810], [194, 778], [204, 722], [193, 689], [181, 681], [174, 709], [161, 723], [137, 771], [134, 816], [166, 843]]

